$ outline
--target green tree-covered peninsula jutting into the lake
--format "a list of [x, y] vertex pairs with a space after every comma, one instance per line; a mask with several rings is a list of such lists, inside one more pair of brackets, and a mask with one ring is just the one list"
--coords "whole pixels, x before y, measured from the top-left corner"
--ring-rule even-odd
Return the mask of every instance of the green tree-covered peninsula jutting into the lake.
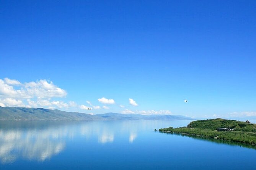
[[[220, 127], [234, 128], [234, 131], [217, 132], [216, 129]], [[236, 120], [210, 119], [193, 121], [189, 123], [188, 127], [162, 128], [159, 129], [159, 132], [180, 133], [256, 145], [255, 129], [256, 125], [252, 123]]]

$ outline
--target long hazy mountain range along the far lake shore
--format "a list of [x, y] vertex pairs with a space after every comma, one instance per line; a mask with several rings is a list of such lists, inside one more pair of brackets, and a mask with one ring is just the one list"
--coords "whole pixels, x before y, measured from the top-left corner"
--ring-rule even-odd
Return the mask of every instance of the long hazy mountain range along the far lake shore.
[[192, 120], [181, 115], [105, 113], [90, 115], [43, 108], [0, 107], [0, 120]]

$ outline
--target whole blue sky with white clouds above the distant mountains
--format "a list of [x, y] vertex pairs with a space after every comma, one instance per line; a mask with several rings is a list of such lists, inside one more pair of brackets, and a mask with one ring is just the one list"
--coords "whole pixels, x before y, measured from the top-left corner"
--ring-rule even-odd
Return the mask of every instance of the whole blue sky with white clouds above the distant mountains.
[[256, 116], [255, 8], [228, 0], [0, 1], [0, 104]]

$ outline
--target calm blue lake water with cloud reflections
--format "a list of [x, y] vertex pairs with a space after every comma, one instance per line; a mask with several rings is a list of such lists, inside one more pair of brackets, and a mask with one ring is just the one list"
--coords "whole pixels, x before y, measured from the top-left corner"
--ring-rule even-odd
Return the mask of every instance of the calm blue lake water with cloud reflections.
[[256, 168], [256, 148], [154, 132], [190, 120], [0, 121], [1, 170]]

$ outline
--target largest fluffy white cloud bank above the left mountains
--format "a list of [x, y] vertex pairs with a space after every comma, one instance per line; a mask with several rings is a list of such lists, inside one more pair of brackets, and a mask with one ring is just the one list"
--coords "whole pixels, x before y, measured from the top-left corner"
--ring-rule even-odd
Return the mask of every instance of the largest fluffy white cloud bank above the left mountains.
[[[18, 87], [15, 87], [18, 86]], [[21, 83], [9, 78], [0, 79], [0, 106], [26, 107], [56, 106], [59, 108], [76, 107], [74, 101], [51, 101], [51, 98], [65, 97], [67, 92], [52, 81], [37, 80], [34, 82]], [[33, 100], [33, 98], [36, 98]], [[26, 101], [24, 99], [27, 99]]]

